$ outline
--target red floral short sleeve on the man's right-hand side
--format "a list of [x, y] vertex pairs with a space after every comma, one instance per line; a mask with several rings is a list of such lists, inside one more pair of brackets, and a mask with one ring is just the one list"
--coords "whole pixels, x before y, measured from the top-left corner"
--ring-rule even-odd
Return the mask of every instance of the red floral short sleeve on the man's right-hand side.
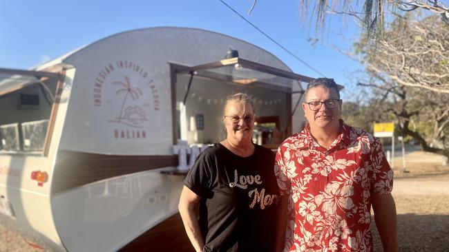
[[371, 192], [376, 194], [391, 193], [393, 189], [393, 170], [388, 164], [379, 138], [374, 138], [371, 149], [372, 184]]

